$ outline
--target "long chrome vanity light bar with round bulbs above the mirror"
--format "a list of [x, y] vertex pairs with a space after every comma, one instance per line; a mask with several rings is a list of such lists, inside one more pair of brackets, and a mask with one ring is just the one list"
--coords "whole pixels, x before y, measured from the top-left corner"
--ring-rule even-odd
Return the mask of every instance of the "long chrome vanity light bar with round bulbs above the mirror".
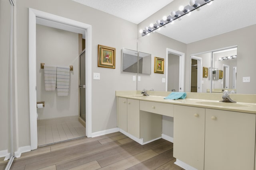
[[190, 12], [194, 10], [201, 10], [201, 7], [206, 4], [211, 4], [214, 0], [190, 0], [189, 4], [185, 7], [180, 6], [178, 11], [172, 11], [169, 16], [164, 16], [162, 20], [157, 20], [156, 23], [151, 23], [149, 27], [145, 27], [144, 30], [140, 30], [142, 36], [149, 35], [149, 33], [156, 31], [160, 27], [166, 27], [166, 24], [172, 23], [174, 20], [181, 20], [182, 16], [190, 15]]

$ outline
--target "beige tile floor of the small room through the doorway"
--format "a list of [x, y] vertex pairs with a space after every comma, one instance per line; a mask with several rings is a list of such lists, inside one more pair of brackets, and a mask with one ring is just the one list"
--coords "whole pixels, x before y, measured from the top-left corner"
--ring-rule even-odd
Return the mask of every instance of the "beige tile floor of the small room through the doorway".
[[38, 146], [85, 136], [78, 116], [37, 120]]

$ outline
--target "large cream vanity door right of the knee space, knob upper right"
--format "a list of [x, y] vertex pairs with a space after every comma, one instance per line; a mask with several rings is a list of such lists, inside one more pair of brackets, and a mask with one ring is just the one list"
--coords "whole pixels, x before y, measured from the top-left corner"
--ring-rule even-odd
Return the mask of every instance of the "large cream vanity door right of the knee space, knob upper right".
[[205, 109], [174, 105], [173, 156], [198, 169], [204, 169]]

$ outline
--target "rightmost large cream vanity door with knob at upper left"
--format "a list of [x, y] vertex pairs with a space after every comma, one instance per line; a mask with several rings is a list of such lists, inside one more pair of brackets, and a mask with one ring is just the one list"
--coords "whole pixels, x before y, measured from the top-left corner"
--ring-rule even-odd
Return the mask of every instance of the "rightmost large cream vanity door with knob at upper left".
[[205, 170], [254, 170], [256, 115], [206, 109]]

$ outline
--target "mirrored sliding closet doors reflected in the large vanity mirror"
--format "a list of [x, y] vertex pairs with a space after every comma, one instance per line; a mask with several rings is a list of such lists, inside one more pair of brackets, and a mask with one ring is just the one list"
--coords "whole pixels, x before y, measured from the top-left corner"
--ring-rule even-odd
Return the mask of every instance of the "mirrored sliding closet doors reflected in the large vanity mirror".
[[190, 92], [236, 92], [237, 47], [190, 56]]

